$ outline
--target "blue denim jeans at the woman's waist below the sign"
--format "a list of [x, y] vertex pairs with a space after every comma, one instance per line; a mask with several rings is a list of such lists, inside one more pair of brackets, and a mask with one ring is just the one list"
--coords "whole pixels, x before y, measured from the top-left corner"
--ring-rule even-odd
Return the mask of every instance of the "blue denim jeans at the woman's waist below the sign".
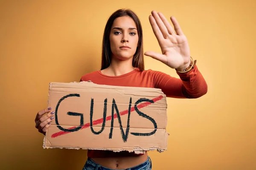
[[[83, 170], [114, 170], [114, 169], [103, 167], [100, 164], [97, 164], [96, 162], [94, 162], [92, 159], [88, 158], [84, 165]], [[127, 168], [125, 170], [152, 170], [151, 159], [148, 156], [148, 159], [142, 164], [139, 164], [135, 167]]]

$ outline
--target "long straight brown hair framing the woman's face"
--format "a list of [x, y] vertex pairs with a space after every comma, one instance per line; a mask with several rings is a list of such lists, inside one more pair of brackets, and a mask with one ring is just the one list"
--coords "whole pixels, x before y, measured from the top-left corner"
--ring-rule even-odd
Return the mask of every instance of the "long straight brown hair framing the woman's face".
[[119, 9], [115, 11], [109, 18], [105, 26], [103, 40], [102, 40], [102, 65], [101, 70], [108, 68], [108, 66], [111, 64], [111, 48], [110, 48], [110, 31], [112, 24], [114, 20], [117, 17], [123, 17], [123, 16], [129, 16], [131, 17], [137, 27], [139, 41], [137, 50], [134, 54], [132, 65], [135, 68], [139, 68], [141, 71], [144, 70], [144, 59], [143, 59], [143, 34], [142, 34], [142, 26], [140, 23], [140, 19], [137, 17], [137, 15], [129, 10], [129, 9]]

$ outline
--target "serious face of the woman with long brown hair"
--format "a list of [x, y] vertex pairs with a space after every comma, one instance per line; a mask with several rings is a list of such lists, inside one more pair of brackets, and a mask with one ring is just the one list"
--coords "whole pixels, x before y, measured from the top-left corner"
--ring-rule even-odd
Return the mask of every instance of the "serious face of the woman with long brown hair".
[[136, 52], [138, 40], [134, 20], [128, 16], [116, 18], [110, 31], [112, 58], [120, 60], [132, 58]]

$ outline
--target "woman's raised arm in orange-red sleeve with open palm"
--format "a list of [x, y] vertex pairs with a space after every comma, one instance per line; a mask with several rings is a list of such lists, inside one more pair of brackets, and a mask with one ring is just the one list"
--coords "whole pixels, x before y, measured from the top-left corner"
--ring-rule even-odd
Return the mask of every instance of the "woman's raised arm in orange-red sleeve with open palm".
[[174, 26], [172, 28], [163, 14], [156, 11], [152, 11], [151, 14], [149, 21], [162, 54], [146, 51], [145, 55], [176, 69], [180, 76], [180, 79], [178, 79], [161, 72], [151, 71], [151, 80], [154, 87], [162, 89], [168, 97], [198, 98], [203, 96], [207, 93], [207, 84], [190, 57], [188, 40], [176, 18], [170, 18]]

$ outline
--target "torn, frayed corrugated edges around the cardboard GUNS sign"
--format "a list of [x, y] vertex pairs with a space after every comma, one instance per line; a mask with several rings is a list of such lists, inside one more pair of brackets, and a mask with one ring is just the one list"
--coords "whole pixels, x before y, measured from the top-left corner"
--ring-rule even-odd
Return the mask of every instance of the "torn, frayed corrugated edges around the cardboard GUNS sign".
[[[91, 81], [87, 81], [87, 82], [91, 82]], [[82, 82], [71, 82], [71, 83], [82, 83]], [[93, 82], [91, 82], [93, 83]], [[94, 84], [94, 83], [93, 83]], [[49, 89], [48, 89], [48, 100], [47, 100], [47, 106], [49, 107], [49, 90], [52, 87], [52, 83], [49, 83]], [[167, 103], [166, 103], [166, 109], [167, 109]], [[166, 120], [167, 121], [167, 120]], [[169, 133], [167, 133], [167, 136], [169, 136]], [[157, 152], [163, 152], [165, 150], [167, 150], [167, 142], [168, 140], [166, 139], [166, 149], [160, 149], [158, 147], [150, 147], [150, 148], [141, 148], [141, 147], [134, 147], [133, 149], [123, 149], [123, 148], [90, 148], [90, 147], [46, 147], [46, 143], [48, 142], [49, 145], [50, 142], [49, 140], [46, 139], [46, 135], [44, 136], [44, 140], [43, 140], [43, 148], [44, 149], [53, 149], [53, 148], [58, 148], [58, 149], [84, 149], [84, 150], [111, 150], [113, 152], [120, 152], [120, 151], [128, 151], [128, 152], [134, 152], [136, 154], [140, 154], [143, 153], [145, 154], [146, 151], [153, 151], [153, 150], [157, 150]]]

